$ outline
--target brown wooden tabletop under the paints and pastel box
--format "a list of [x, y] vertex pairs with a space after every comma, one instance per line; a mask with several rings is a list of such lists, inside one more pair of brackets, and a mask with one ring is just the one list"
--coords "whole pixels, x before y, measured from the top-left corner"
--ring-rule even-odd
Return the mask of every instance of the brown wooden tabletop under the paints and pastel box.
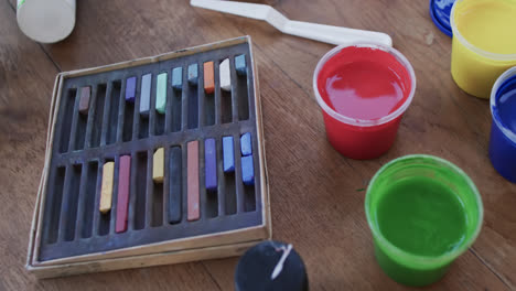
[[267, 1], [291, 19], [383, 31], [412, 63], [417, 90], [393, 149], [354, 161], [325, 138], [312, 73], [332, 48], [283, 35], [267, 23], [175, 1], [77, 1], [65, 41], [24, 36], [15, 0], [0, 0], [0, 290], [232, 290], [237, 258], [37, 281], [24, 270], [43, 168], [55, 75], [249, 34], [258, 62], [273, 238], [292, 242], [312, 290], [404, 290], [373, 255], [364, 188], [380, 165], [409, 153], [442, 157], [480, 188], [482, 233], [444, 279], [429, 289], [516, 288], [516, 185], [488, 157], [486, 100], [461, 91], [450, 75], [451, 39], [430, 20], [427, 0]]

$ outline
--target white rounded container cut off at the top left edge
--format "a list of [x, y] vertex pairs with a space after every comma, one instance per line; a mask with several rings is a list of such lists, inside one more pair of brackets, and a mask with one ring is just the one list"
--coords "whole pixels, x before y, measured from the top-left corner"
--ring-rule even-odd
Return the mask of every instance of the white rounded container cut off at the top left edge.
[[18, 0], [18, 25], [41, 43], [64, 40], [75, 26], [75, 0]]

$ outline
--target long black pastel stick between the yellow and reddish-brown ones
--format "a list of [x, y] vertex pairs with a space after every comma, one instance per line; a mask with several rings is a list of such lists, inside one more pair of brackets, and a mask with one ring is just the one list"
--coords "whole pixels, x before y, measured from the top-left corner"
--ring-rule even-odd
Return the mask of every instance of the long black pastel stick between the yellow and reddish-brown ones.
[[182, 214], [182, 183], [183, 183], [183, 153], [180, 147], [170, 149], [170, 192], [169, 192], [169, 224], [181, 222]]

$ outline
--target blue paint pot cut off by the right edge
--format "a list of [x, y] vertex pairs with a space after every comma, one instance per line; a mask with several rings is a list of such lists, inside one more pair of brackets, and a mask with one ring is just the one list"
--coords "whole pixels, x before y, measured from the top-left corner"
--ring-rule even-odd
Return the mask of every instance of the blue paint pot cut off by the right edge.
[[490, 159], [498, 173], [516, 183], [516, 67], [502, 74], [491, 91]]

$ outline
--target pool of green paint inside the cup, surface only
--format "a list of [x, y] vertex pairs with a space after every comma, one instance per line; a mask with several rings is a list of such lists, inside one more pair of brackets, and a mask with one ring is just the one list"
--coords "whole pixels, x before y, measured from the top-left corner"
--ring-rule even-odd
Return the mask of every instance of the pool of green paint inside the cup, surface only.
[[407, 177], [379, 190], [377, 222], [396, 247], [421, 256], [456, 249], [465, 238], [465, 212], [458, 196], [424, 176]]

